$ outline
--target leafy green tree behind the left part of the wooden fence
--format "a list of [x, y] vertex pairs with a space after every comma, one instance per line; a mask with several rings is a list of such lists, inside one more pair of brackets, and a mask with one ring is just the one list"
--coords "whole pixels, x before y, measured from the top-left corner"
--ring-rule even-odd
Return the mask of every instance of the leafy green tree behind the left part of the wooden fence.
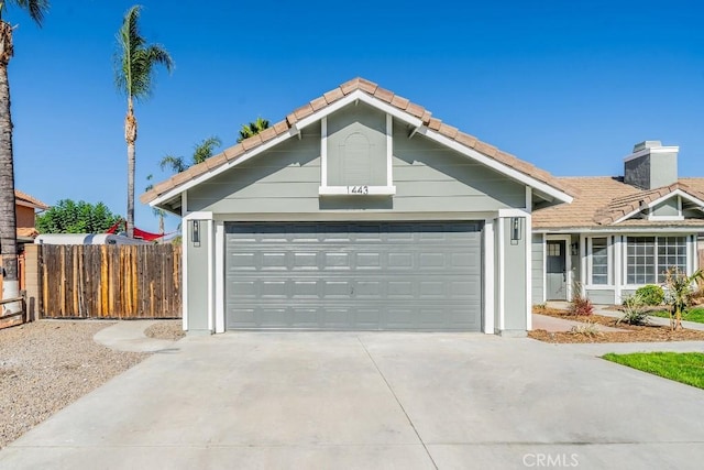
[[94, 206], [84, 200], [62, 199], [36, 216], [36, 230], [40, 233], [105, 233], [119, 220], [121, 217], [102, 203]]

